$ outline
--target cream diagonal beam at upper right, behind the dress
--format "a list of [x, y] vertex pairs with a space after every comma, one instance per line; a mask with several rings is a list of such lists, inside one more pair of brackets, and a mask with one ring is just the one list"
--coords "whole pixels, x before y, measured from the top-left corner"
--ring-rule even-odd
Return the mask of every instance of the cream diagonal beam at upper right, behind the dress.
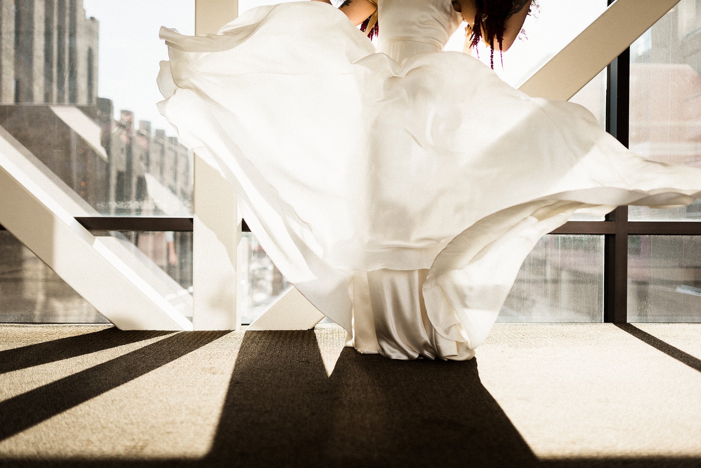
[[678, 3], [616, 0], [519, 90], [533, 97], [570, 99]]

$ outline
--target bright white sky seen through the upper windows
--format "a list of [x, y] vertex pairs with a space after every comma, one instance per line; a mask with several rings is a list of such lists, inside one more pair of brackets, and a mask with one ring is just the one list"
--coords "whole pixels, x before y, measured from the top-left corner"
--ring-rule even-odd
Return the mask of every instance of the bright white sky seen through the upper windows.
[[[272, 3], [280, 2], [239, 0], [239, 12]], [[194, 34], [194, 0], [83, 0], [83, 6], [88, 17], [100, 21], [100, 97], [114, 101], [116, 117], [120, 109], [129, 109], [137, 121], [151, 121], [154, 128], [175, 135], [156, 109], [162, 99], [156, 86], [158, 62], [168, 60], [158, 29], [163, 25]], [[504, 54], [504, 69], [495, 57], [497, 74], [518, 85], [605, 8], [606, 0], [540, 0], [538, 18], [529, 17], [524, 25], [528, 40], [517, 41]], [[462, 51], [464, 34], [464, 28], [458, 29], [446, 49]], [[489, 63], [489, 50], [480, 50], [479, 56]]]

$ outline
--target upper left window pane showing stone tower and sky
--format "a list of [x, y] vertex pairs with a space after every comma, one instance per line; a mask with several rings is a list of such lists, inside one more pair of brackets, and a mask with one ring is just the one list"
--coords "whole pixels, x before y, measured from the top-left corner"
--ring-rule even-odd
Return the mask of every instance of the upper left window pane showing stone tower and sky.
[[192, 154], [156, 109], [156, 75], [158, 28], [193, 34], [194, 0], [12, 3], [0, 138], [24, 146], [32, 178], [74, 216], [189, 216]]

